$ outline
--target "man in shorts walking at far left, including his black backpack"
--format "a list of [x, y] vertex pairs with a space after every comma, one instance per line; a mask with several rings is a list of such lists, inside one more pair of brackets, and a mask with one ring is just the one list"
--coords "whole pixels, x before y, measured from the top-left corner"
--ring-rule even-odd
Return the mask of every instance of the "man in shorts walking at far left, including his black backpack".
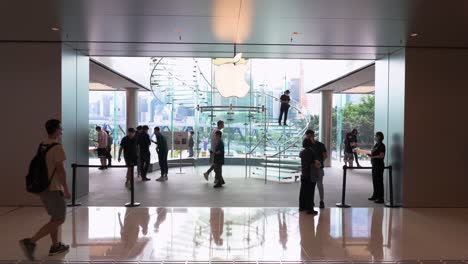
[[31, 161], [26, 176], [26, 188], [39, 196], [50, 215], [50, 221], [34, 236], [19, 241], [29, 260], [34, 260], [36, 242], [47, 235], [50, 235], [52, 240], [49, 256], [66, 252], [70, 248], [58, 239], [60, 226], [65, 222], [67, 208], [65, 199], [71, 197], [64, 167], [65, 151], [59, 143], [62, 136], [61, 121], [50, 119], [46, 122], [45, 128], [48, 138], [39, 145], [38, 152]]

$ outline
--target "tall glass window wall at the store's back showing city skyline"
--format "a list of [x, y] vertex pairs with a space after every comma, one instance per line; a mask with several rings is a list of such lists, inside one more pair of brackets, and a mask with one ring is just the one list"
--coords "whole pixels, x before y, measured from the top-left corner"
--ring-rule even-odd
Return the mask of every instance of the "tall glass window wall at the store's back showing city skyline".
[[[126, 69], [126, 63], [119, 64], [118, 59], [113, 65], [121, 68], [116, 70], [130, 78], [133, 74], [135, 79], [150, 84], [151, 91], [139, 92], [139, 125], [148, 125], [150, 132], [156, 126], [169, 134], [194, 131], [194, 156], [196, 160], [203, 160], [209, 157], [210, 133], [216, 127], [216, 122], [223, 120], [226, 157], [233, 164], [244, 164], [247, 162], [244, 160], [257, 158], [269, 159], [269, 166], [274, 163], [285, 164], [276, 168], [278, 175], [288, 170], [288, 162], [294, 161], [292, 167], [297, 168], [298, 152], [305, 130], [311, 128], [318, 133], [320, 94], [307, 92], [369, 63], [297, 59], [242, 60], [241, 63], [246, 66], [242, 72], [242, 81], [250, 89], [243, 97], [224, 97], [217, 84], [219, 69], [226, 64], [223, 60], [229, 59], [139, 58], [141, 69], [138, 75], [135, 73], [135, 65]], [[147, 75], [146, 80], [143, 75]], [[285, 90], [291, 92], [287, 127], [278, 125], [279, 97]], [[335, 118], [339, 117], [338, 110], [341, 108], [338, 105], [335, 107]], [[342, 119], [335, 119], [334, 123], [337, 122], [342, 122], [343, 127]], [[111, 130], [114, 143], [120, 142], [126, 127], [125, 92], [91, 91], [90, 149], [94, 144], [91, 139], [95, 138], [93, 133], [96, 125]], [[338, 131], [336, 127], [334, 131]], [[334, 139], [337, 145], [339, 136]], [[152, 160], [156, 161], [154, 148], [152, 152]], [[172, 150], [169, 158], [178, 159], [180, 155], [186, 158], [188, 150]], [[264, 164], [256, 164], [266, 170], [267, 166], [261, 166]], [[268, 174], [266, 171], [261, 173]]]

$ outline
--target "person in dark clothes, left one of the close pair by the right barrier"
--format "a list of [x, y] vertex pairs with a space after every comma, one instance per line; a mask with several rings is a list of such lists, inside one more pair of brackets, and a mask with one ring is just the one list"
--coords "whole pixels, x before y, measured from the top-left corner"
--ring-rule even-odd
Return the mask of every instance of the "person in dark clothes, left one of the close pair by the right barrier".
[[301, 158], [301, 189], [299, 191], [299, 211], [306, 211], [308, 214], [316, 215], [313, 199], [315, 184], [319, 177], [320, 162], [317, 154], [312, 149], [312, 143], [306, 139], [302, 142], [304, 148], [300, 153]]

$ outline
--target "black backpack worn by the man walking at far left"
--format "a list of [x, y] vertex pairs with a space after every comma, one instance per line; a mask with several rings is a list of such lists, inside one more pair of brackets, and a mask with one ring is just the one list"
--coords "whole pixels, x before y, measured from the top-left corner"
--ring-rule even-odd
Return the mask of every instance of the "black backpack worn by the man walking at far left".
[[[50, 145], [40, 144], [36, 155], [29, 163], [29, 172], [26, 175], [26, 190], [31, 193], [41, 193], [49, 187], [50, 181], [54, 177], [55, 170], [52, 173], [52, 178], [49, 180], [47, 170], [46, 154], [54, 146], [59, 143]], [[45, 147], [45, 148], [44, 148]]]

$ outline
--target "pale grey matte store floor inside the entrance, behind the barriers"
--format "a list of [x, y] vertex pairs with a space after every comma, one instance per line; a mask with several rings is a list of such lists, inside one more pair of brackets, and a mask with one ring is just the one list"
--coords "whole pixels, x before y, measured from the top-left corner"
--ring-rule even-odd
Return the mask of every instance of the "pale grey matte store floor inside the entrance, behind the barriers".
[[[136, 179], [136, 201], [144, 206], [157, 207], [295, 207], [298, 205], [299, 182], [278, 183], [263, 179], [245, 178], [245, 167], [224, 166], [226, 185], [213, 189], [213, 175], [207, 182], [202, 167], [183, 167], [169, 170], [169, 181], [154, 181], [159, 172], [149, 174], [152, 179], [142, 182]], [[81, 169], [80, 169], [81, 170]], [[326, 168], [325, 204], [334, 206], [341, 201], [343, 170]], [[78, 171], [79, 176], [79, 171]], [[347, 202], [355, 207], [381, 207], [367, 200], [372, 192], [370, 171], [348, 171]], [[90, 170], [90, 194], [80, 201], [90, 206], [123, 206], [129, 201], [124, 186], [125, 169]], [[319, 202], [316, 192], [316, 203]]]

